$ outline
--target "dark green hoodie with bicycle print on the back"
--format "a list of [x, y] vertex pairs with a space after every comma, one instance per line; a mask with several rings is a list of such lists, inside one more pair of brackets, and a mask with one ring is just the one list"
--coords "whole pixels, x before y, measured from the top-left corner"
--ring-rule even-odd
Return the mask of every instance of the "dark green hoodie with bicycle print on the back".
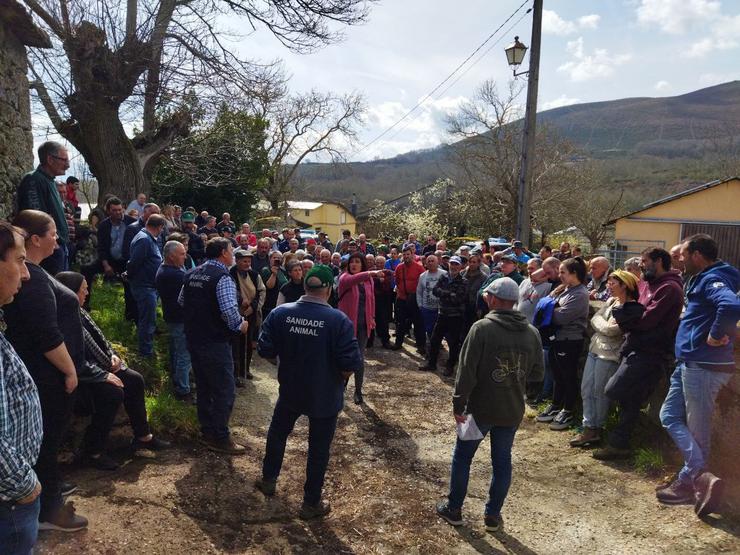
[[460, 353], [452, 396], [455, 414], [480, 425], [519, 426], [527, 382], [545, 366], [539, 332], [516, 310], [492, 310], [470, 328]]

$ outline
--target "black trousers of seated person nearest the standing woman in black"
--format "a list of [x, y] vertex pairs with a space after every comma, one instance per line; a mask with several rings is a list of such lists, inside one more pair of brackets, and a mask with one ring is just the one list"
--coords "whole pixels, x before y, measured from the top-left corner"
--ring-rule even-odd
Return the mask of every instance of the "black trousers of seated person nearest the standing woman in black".
[[75, 395], [75, 412], [90, 416], [82, 439], [82, 451], [98, 455], [105, 449], [118, 407], [123, 402], [123, 389], [108, 382], [81, 383]]

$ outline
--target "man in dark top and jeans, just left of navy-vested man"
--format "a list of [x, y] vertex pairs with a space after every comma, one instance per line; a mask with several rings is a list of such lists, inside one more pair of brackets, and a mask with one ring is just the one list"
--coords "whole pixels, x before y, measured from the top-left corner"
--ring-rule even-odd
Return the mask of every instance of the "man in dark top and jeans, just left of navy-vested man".
[[164, 245], [164, 262], [157, 270], [155, 283], [162, 299], [162, 316], [170, 338], [170, 371], [175, 398], [190, 402], [190, 353], [185, 341], [185, 315], [177, 302], [185, 281], [185, 246], [178, 241]]

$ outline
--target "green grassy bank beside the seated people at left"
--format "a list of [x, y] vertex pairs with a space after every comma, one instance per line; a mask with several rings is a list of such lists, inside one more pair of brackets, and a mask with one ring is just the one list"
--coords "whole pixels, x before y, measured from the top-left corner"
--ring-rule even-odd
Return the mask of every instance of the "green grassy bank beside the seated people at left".
[[[130, 368], [144, 376], [147, 415], [154, 433], [193, 437], [198, 431], [195, 407], [178, 401], [171, 393], [167, 333], [154, 336], [154, 357], [142, 358], [137, 349], [136, 326], [124, 315], [123, 286], [98, 279], [91, 305], [90, 314], [113, 349]], [[164, 328], [159, 309], [157, 317], [158, 328]]]

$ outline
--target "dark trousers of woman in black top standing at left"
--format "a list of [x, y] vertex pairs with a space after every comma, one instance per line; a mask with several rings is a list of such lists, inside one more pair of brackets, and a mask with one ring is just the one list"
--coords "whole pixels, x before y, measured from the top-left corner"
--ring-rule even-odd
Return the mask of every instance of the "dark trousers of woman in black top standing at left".
[[69, 423], [74, 398], [64, 391], [64, 383], [61, 381], [54, 384], [37, 383], [36, 386], [41, 401], [44, 438], [33, 468], [41, 484], [39, 520], [45, 521], [62, 506], [62, 477], [57, 455]]

